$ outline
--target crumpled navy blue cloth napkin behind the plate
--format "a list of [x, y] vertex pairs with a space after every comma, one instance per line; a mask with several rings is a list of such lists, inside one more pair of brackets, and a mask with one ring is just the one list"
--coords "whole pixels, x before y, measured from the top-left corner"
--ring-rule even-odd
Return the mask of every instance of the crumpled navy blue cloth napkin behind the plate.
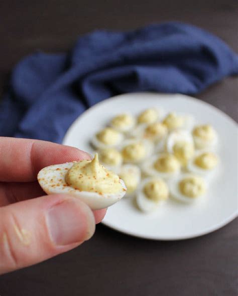
[[60, 143], [86, 108], [113, 95], [197, 94], [235, 74], [238, 56], [194, 26], [95, 31], [80, 37], [68, 54], [36, 53], [15, 67], [0, 106], [0, 136]]

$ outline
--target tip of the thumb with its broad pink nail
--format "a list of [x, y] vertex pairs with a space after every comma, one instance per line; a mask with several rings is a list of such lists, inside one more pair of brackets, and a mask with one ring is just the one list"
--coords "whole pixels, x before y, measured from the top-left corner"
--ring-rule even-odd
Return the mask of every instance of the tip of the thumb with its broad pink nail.
[[95, 220], [89, 207], [76, 198], [67, 199], [49, 209], [47, 224], [56, 245], [88, 240], [95, 231]]

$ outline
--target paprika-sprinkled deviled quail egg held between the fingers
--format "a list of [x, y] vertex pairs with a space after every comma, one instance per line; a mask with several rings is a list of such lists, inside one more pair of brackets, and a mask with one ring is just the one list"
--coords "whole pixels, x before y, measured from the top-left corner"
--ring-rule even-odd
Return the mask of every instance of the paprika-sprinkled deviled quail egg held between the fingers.
[[38, 182], [47, 194], [68, 193], [91, 209], [108, 207], [126, 194], [125, 183], [98, 161], [92, 160], [51, 165], [38, 173]]

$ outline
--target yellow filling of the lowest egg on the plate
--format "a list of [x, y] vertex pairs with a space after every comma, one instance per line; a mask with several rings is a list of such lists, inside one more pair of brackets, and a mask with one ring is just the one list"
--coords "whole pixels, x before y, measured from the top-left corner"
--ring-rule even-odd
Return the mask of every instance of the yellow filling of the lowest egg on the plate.
[[169, 197], [169, 189], [163, 180], [153, 180], [144, 186], [144, 193], [147, 198], [159, 201]]

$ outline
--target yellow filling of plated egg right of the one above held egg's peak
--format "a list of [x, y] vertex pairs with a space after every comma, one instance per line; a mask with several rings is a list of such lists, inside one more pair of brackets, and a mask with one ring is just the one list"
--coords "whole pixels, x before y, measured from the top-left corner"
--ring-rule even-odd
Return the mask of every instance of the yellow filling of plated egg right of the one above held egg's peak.
[[146, 156], [145, 145], [141, 142], [129, 144], [123, 148], [122, 155], [125, 161], [140, 161]]

